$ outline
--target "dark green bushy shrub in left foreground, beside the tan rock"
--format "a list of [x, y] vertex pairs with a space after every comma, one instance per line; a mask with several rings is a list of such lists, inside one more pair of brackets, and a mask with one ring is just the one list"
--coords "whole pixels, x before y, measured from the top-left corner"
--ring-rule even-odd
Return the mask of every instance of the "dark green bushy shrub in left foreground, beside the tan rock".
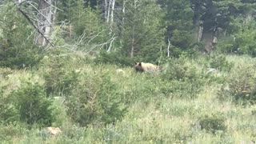
[[51, 101], [46, 98], [43, 86], [38, 83], [23, 82], [22, 87], [14, 90], [10, 97], [18, 110], [20, 121], [39, 126], [50, 126], [54, 121]]

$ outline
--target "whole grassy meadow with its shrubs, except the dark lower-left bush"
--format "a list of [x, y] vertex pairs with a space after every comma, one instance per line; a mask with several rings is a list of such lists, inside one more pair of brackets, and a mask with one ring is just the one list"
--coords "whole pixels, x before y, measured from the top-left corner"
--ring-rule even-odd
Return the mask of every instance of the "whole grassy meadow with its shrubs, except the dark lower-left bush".
[[30, 83], [43, 89], [54, 115], [51, 126], [62, 130], [50, 136], [45, 126], [10, 121], [3, 111], [0, 141], [254, 143], [255, 64], [247, 56], [181, 57], [162, 62], [159, 74], [139, 74], [132, 66], [68, 54], [45, 57], [36, 68], [0, 68], [0, 110], [10, 110], [8, 97]]

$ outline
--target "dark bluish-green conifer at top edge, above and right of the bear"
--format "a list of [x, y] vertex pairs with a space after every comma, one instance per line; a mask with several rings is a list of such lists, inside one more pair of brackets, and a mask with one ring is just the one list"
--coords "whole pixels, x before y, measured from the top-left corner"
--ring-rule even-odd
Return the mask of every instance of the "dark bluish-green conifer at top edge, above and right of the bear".
[[166, 11], [166, 39], [182, 50], [189, 49], [193, 43], [192, 26], [193, 11], [191, 4], [186, 0], [160, 0], [163, 9]]

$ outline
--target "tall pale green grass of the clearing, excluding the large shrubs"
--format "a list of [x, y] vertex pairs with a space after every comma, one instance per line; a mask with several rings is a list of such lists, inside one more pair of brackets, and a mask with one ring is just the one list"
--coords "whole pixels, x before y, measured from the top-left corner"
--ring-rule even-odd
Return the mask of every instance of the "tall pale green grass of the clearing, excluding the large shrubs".
[[[71, 57], [63, 69], [78, 70], [81, 74], [78, 79], [85, 74], [96, 77], [106, 74], [110, 77], [109, 82], [118, 87], [118, 97], [127, 106], [122, 119], [106, 125], [99, 122], [79, 126], [66, 113], [65, 98], [62, 97], [54, 99], [53, 105], [57, 116], [53, 126], [60, 127], [62, 134], [49, 136], [42, 128], [35, 126], [28, 130], [17, 123], [1, 126], [0, 131], [3, 133], [0, 135], [8, 138], [0, 138], [2, 143], [255, 142], [256, 106], [245, 104], [242, 100], [234, 102], [232, 95], [222, 93], [222, 87], [230, 84], [228, 79], [236, 78], [237, 73], [241, 73], [238, 71], [241, 70], [239, 66], [256, 70], [255, 59], [246, 56], [225, 58], [226, 62], [232, 62], [234, 66], [229, 71], [218, 70], [218, 74], [210, 75], [206, 74], [206, 70], [212, 61], [203, 57], [184, 58], [184, 63], [180, 63], [178, 68], [185, 71], [180, 79], [175, 79], [168, 76], [168, 71], [165, 75], [136, 74], [132, 67], [123, 68], [125, 73], [118, 74], [118, 66], [82, 63], [81, 59]], [[38, 70], [14, 70], [7, 76], [0, 72], [1, 86], [8, 85], [4, 90], [5, 95], [20, 86], [20, 78], [44, 85], [42, 74], [50, 69], [49, 65], [45, 61]], [[222, 65], [222, 62], [218, 65]], [[168, 66], [166, 69], [174, 70]], [[81, 79], [79, 82], [82, 82]], [[225, 98], [220, 98], [220, 94]], [[12, 131], [7, 133], [6, 129]]]

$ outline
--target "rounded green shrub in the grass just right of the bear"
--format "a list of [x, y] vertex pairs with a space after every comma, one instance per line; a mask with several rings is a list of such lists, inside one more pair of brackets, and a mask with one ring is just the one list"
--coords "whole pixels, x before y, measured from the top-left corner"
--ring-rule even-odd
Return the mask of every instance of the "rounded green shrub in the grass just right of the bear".
[[194, 65], [186, 64], [186, 58], [183, 57], [167, 61], [162, 67], [160, 78], [164, 81], [162, 90], [183, 98], [195, 98], [205, 83], [202, 70], [198, 70]]

